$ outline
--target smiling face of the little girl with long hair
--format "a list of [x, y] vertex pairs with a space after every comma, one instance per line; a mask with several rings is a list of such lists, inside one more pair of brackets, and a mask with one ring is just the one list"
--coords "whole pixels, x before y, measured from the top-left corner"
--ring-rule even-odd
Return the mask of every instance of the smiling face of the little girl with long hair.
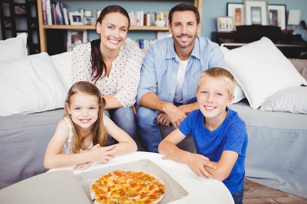
[[73, 122], [81, 128], [90, 128], [98, 119], [99, 104], [95, 95], [76, 93], [71, 97], [71, 104], [65, 104]]

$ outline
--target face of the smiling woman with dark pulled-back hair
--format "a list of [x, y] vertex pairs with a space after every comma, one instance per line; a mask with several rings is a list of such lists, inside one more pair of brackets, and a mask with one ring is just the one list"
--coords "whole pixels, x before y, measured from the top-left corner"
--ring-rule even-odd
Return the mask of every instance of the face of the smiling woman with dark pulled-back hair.
[[128, 33], [128, 19], [121, 13], [108, 13], [101, 23], [96, 23], [96, 31], [101, 34], [101, 48], [119, 49]]

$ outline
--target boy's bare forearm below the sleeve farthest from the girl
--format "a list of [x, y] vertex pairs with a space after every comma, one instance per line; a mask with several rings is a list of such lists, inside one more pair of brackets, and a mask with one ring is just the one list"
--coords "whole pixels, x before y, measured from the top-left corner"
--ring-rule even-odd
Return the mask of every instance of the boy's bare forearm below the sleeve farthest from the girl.
[[212, 161], [217, 169], [214, 170], [212, 168], [208, 168], [207, 166], [205, 166], [205, 169], [213, 176], [214, 179], [224, 181], [230, 175], [238, 156], [239, 154], [234, 151], [224, 150], [218, 162]]

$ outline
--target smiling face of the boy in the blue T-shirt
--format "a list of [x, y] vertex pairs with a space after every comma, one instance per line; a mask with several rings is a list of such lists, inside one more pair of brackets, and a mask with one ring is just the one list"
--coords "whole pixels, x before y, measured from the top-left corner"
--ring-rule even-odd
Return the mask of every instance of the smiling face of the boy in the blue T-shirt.
[[223, 120], [226, 107], [231, 104], [234, 98], [234, 96], [229, 98], [225, 82], [211, 77], [202, 81], [196, 96], [198, 107], [206, 118], [223, 117]]

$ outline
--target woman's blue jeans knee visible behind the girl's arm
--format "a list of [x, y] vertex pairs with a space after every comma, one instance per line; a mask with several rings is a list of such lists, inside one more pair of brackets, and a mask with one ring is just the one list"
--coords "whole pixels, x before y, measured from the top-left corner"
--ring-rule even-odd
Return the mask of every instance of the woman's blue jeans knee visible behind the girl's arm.
[[123, 129], [135, 140], [136, 124], [132, 107], [121, 107], [118, 109], [104, 110], [103, 113], [111, 118], [118, 127]]

